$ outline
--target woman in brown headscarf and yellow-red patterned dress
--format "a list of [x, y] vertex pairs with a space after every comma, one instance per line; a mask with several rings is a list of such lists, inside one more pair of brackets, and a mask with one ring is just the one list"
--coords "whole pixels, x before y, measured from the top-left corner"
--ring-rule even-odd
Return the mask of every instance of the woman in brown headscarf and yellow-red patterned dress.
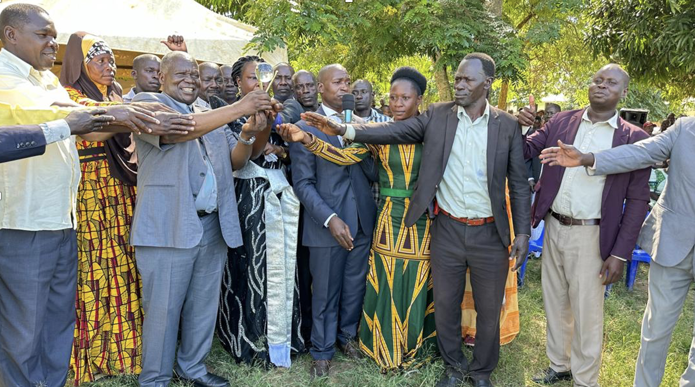
[[[85, 106], [122, 104], [115, 58], [104, 40], [70, 36], [60, 83]], [[140, 372], [140, 277], [128, 244], [136, 195], [135, 149], [129, 133], [105, 142], [78, 139], [82, 171], [77, 195], [77, 323], [74, 384], [102, 374]]]

